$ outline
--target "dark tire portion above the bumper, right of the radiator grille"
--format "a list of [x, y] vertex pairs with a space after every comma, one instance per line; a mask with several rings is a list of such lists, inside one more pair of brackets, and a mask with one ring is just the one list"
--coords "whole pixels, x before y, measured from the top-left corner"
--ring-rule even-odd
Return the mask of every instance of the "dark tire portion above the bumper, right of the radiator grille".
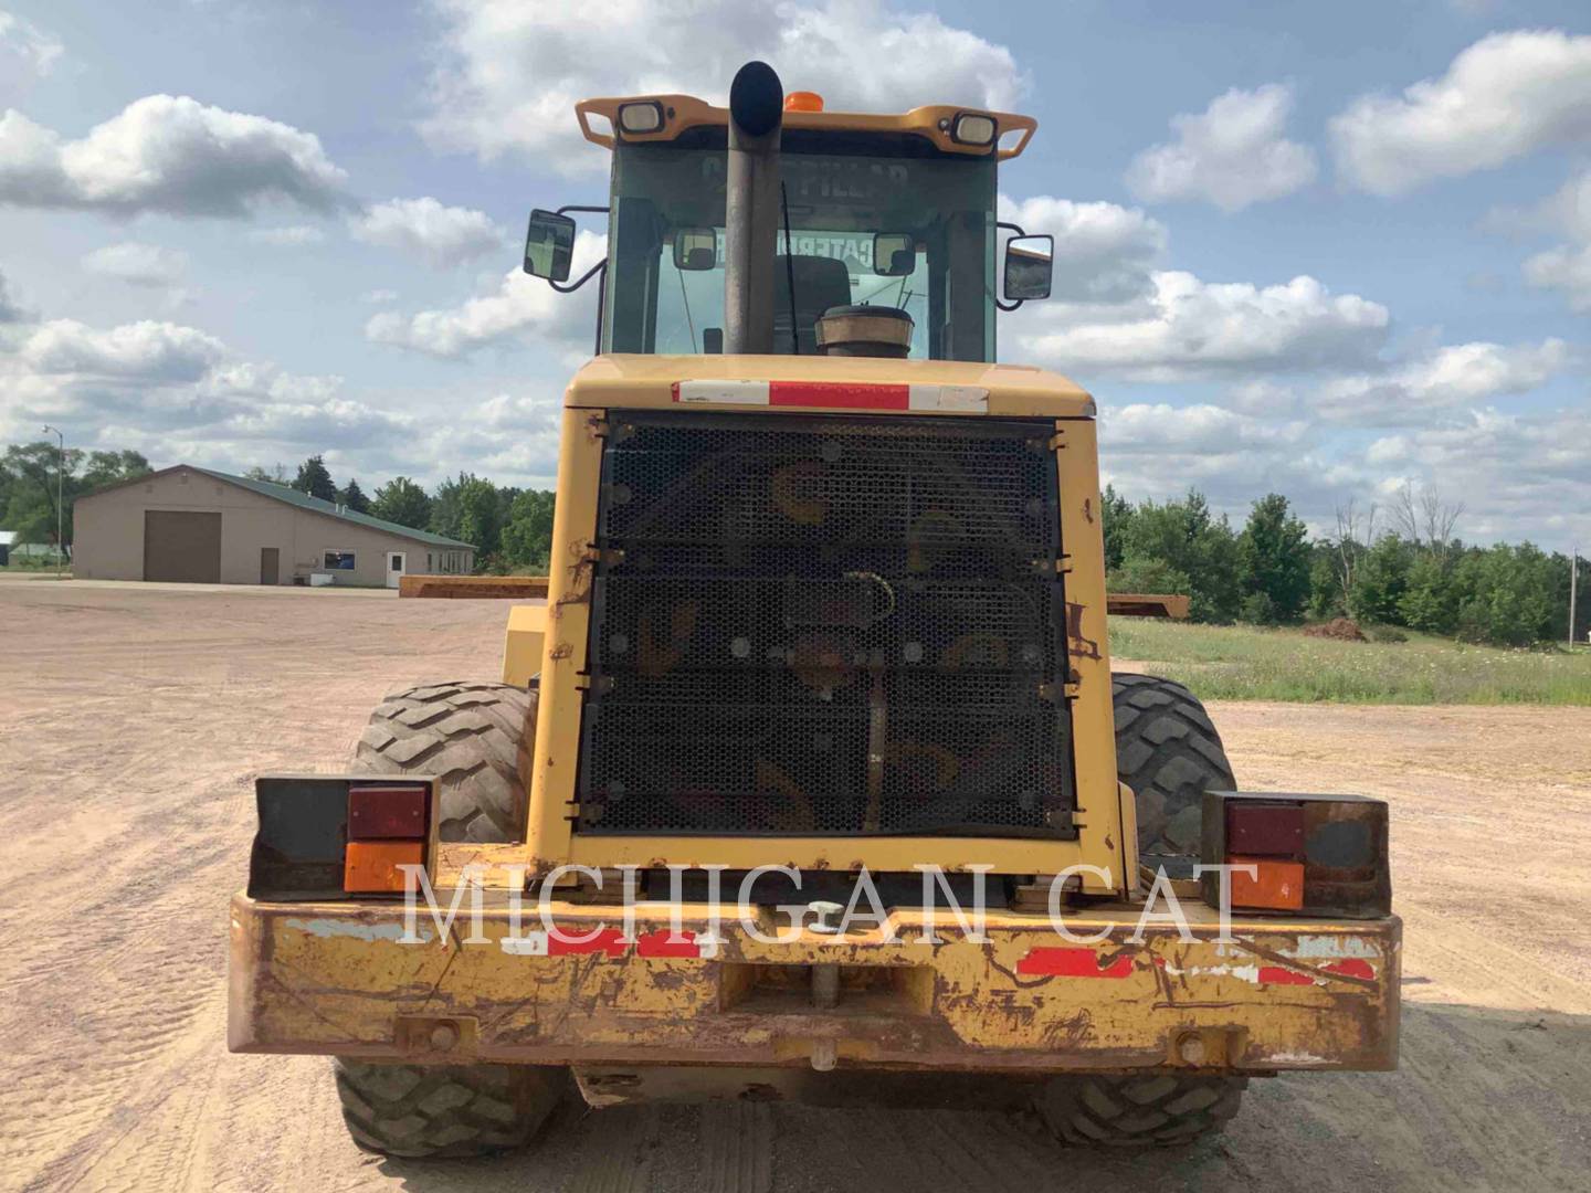
[[1206, 791], [1231, 791], [1236, 779], [1220, 733], [1182, 684], [1152, 674], [1112, 674], [1115, 768], [1138, 795], [1138, 853], [1150, 870], [1157, 857], [1198, 857]]

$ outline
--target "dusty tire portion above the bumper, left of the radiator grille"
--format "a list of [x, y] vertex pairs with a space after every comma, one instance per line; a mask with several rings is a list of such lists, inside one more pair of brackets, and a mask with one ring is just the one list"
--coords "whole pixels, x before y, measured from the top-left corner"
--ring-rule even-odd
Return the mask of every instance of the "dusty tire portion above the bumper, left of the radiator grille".
[[535, 736], [535, 690], [422, 684], [375, 706], [353, 760], [375, 775], [438, 776], [444, 841], [520, 841]]

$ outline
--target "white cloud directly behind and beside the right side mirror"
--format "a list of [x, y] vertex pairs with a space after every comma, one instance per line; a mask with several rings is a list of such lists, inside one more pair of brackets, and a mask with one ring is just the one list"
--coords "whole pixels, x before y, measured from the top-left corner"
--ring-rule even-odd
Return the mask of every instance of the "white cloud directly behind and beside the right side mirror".
[[1055, 237], [1055, 301], [1125, 302], [1149, 293], [1166, 229], [1136, 207], [1036, 196], [999, 197], [999, 218]]

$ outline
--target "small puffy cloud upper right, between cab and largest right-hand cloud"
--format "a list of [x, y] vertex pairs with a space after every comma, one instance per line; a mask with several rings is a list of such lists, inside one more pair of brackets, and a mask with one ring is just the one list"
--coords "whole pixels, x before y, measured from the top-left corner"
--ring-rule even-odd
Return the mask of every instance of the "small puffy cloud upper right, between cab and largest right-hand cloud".
[[1144, 150], [1126, 170], [1126, 185], [1146, 202], [1201, 199], [1223, 212], [1281, 199], [1316, 177], [1314, 151], [1286, 137], [1292, 87], [1268, 83], [1233, 87], [1203, 115], [1171, 118], [1177, 140]]

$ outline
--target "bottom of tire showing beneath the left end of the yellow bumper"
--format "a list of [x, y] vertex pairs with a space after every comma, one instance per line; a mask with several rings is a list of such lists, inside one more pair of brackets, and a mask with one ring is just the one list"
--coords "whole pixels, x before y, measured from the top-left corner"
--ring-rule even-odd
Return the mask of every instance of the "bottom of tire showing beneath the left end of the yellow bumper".
[[479, 1156], [523, 1147], [568, 1091], [568, 1069], [333, 1061], [353, 1142], [388, 1156]]

